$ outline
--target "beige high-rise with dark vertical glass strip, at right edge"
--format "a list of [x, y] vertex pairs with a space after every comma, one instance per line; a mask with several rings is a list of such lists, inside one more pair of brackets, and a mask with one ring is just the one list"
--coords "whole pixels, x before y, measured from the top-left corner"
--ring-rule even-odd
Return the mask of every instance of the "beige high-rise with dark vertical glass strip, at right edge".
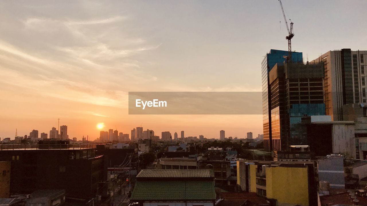
[[366, 103], [367, 51], [328, 51], [310, 63], [324, 64], [326, 115], [343, 121], [344, 104]]

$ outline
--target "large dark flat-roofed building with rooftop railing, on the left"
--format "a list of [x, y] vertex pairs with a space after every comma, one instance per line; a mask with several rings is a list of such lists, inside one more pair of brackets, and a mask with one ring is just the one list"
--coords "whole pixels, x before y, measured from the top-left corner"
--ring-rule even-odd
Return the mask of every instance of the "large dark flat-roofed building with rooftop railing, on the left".
[[91, 198], [106, 180], [104, 157], [96, 155], [95, 144], [76, 146], [69, 140], [45, 139], [36, 149], [2, 149], [0, 161], [11, 162], [11, 193], [63, 188], [68, 197]]

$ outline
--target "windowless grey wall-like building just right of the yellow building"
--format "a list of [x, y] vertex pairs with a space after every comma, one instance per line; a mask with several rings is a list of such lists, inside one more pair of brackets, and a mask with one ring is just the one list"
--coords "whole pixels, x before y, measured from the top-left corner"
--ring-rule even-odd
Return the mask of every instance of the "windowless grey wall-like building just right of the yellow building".
[[344, 157], [328, 155], [327, 158], [317, 159], [317, 172], [319, 181], [327, 181], [330, 188], [345, 188]]

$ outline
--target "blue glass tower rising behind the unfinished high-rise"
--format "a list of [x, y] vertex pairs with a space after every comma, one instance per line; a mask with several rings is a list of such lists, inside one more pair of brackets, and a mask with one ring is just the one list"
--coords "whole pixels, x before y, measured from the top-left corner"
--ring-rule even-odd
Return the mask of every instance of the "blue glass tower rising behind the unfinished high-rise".
[[[266, 151], [273, 150], [273, 144], [279, 145], [279, 137], [272, 139], [272, 107], [270, 104], [271, 92], [269, 82], [269, 72], [276, 63], [283, 63], [288, 56], [288, 51], [270, 49], [270, 52], [265, 55], [261, 63], [262, 76], [262, 114], [263, 114], [263, 131], [264, 131], [264, 147]], [[292, 52], [291, 62], [303, 62], [302, 52]], [[277, 123], [276, 123], [277, 124]], [[279, 131], [276, 131], [279, 132]]]

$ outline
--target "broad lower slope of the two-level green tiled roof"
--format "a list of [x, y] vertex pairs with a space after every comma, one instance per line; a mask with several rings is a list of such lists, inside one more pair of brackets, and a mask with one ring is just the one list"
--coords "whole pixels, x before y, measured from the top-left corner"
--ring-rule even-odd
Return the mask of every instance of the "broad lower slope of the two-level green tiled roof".
[[130, 200], [215, 200], [214, 181], [137, 181]]

